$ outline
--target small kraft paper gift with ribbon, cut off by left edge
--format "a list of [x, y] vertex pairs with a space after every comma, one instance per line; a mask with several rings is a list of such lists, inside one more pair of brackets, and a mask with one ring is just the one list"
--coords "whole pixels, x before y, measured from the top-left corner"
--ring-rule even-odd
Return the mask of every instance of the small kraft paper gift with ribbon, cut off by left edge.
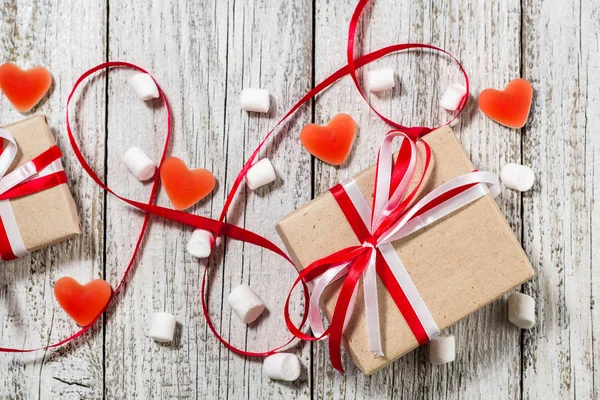
[[46, 117], [0, 128], [0, 257], [4, 261], [81, 233]]

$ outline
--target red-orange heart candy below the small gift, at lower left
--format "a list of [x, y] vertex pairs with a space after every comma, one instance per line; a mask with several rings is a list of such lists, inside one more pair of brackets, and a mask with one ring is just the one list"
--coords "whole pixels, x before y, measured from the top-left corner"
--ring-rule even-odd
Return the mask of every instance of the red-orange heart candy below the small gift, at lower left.
[[112, 288], [103, 279], [85, 285], [65, 276], [56, 281], [54, 296], [58, 304], [79, 326], [88, 326], [98, 317], [112, 296]]

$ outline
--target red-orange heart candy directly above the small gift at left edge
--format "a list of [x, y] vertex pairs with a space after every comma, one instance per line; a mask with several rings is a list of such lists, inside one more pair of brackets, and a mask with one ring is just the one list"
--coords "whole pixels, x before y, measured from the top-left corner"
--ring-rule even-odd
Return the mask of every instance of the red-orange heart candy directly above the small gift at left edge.
[[52, 85], [52, 75], [44, 67], [23, 71], [15, 64], [0, 65], [0, 90], [19, 112], [31, 110]]

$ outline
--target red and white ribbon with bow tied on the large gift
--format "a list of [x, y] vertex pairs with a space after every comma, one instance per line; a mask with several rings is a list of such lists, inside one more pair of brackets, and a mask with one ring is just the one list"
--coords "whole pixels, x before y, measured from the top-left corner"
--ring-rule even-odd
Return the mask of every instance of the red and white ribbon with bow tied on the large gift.
[[[392, 142], [395, 138], [401, 138], [402, 143], [394, 165]], [[313, 262], [300, 272], [298, 280], [294, 283], [295, 287], [302, 279], [312, 282], [308, 317], [315, 337], [304, 334], [290, 321], [286, 304], [286, 321], [290, 331], [305, 340], [327, 337], [331, 361], [337, 369], [342, 368], [341, 336], [352, 316], [361, 277], [368, 347], [373, 356], [384, 355], [379, 328], [377, 275], [419, 344], [427, 343], [439, 334], [435, 320], [391, 243], [488, 193], [494, 197], [500, 193], [498, 177], [495, 174], [475, 171], [438, 186], [413, 205], [431, 161], [429, 145], [425, 141], [420, 142], [425, 147], [424, 168], [412, 189], [410, 186], [411, 182], [415, 182], [413, 178], [417, 169], [417, 142], [397, 130], [386, 135], [379, 150], [373, 208], [352, 178], [330, 189], [361, 245], [342, 249]], [[327, 286], [342, 278], [344, 283], [331, 323], [325, 329], [319, 311], [320, 298]]]

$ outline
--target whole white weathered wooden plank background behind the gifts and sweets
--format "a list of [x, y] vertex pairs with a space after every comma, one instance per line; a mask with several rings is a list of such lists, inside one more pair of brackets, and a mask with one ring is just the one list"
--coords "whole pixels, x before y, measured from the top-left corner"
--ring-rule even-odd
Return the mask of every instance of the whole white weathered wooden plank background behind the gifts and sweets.
[[[347, 23], [355, 2], [325, 0], [0, 0], [0, 62], [45, 65], [54, 76], [44, 113], [63, 148], [83, 222], [77, 239], [0, 266], [0, 345], [40, 346], [76, 327], [60, 310], [52, 285], [71, 275], [116, 284], [142, 218], [92, 184], [68, 148], [64, 106], [74, 80], [106, 60], [153, 72], [174, 111], [171, 154], [211, 169], [214, 195], [193, 211], [217, 217], [226, 190], [259, 139], [315, 81], [343, 65]], [[56, 351], [0, 354], [0, 398], [402, 398], [598, 399], [600, 397], [600, 3], [597, 0], [378, 0], [359, 28], [359, 51], [397, 42], [426, 42], [456, 55], [474, 91], [529, 79], [535, 95], [522, 130], [501, 127], [472, 102], [456, 127], [480, 169], [507, 162], [531, 165], [534, 189], [504, 190], [499, 202], [537, 271], [521, 290], [537, 300], [538, 324], [519, 331], [497, 301], [450, 329], [457, 360], [433, 367], [418, 349], [364, 377], [345, 360], [335, 372], [323, 344], [301, 345], [302, 377], [269, 381], [260, 360], [238, 357], [207, 330], [199, 289], [203, 263], [185, 252], [191, 230], [154, 220], [143, 254], [118, 301], [80, 340]], [[438, 99], [459, 79], [447, 59], [428, 54], [387, 57], [398, 84], [371, 96], [380, 110], [407, 123], [447, 115]], [[375, 65], [373, 65], [374, 67]], [[124, 148], [158, 158], [165, 131], [159, 105], [134, 99], [131, 71], [99, 74], [78, 97], [77, 134], [88, 159], [126, 196], [145, 199], [149, 186], [120, 162]], [[238, 106], [243, 87], [268, 88], [268, 117]], [[315, 162], [298, 143], [311, 121], [338, 112], [360, 126], [347, 164]], [[0, 125], [22, 118], [0, 99]], [[348, 79], [307, 106], [280, 131], [266, 153], [278, 181], [243, 193], [230, 221], [276, 238], [275, 221], [375, 161], [386, 127]], [[168, 205], [164, 195], [160, 204]], [[244, 207], [245, 203], [245, 207]], [[222, 246], [221, 251], [222, 254]], [[294, 272], [277, 257], [239, 243], [224, 245], [211, 273], [211, 313], [223, 335], [252, 349], [283, 340], [281, 308]], [[266, 318], [247, 328], [226, 304], [230, 289], [252, 285], [267, 303]], [[144, 336], [148, 318], [168, 311], [180, 321], [176, 340]], [[294, 304], [300, 310], [300, 301]]]

